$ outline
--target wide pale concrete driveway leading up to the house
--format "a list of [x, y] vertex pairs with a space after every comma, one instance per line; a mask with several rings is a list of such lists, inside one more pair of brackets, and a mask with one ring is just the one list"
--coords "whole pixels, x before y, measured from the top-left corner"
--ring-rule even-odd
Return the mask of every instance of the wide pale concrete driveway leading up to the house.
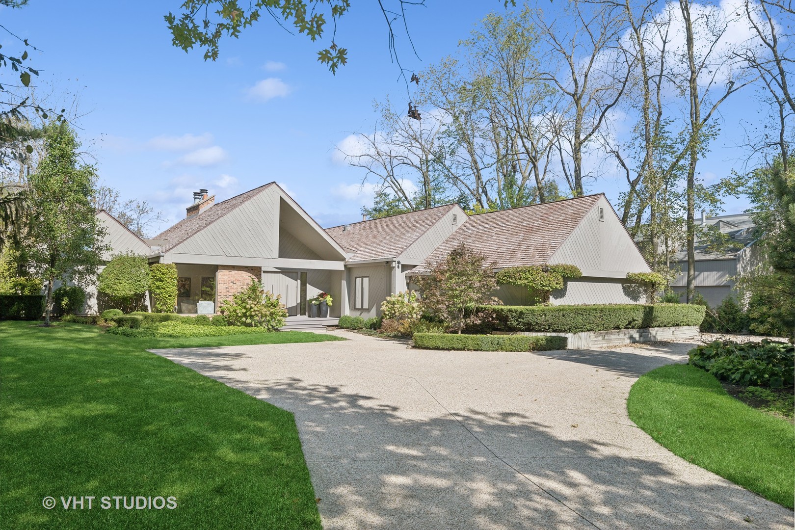
[[296, 416], [324, 528], [793, 528], [629, 420], [689, 344], [530, 353], [347, 342], [157, 350]]

